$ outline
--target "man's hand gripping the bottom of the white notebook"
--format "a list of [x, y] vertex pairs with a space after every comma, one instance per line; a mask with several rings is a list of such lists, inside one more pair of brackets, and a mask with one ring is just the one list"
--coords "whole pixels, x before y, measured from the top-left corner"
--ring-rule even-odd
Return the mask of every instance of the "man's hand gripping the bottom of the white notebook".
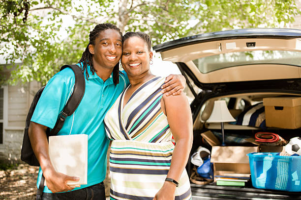
[[67, 192], [73, 190], [73, 187], [67, 185], [67, 181], [78, 181], [78, 177], [68, 176], [61, 173], [57, 173], [54, 169], [47, 169], [43, 172], [46, 180], [46, 184], [49, 190], [53, 193]]

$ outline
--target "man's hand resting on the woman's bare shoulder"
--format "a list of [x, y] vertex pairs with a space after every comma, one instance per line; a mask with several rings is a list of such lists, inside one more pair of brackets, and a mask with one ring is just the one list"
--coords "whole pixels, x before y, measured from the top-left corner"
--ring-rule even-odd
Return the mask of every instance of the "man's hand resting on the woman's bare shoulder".
[[165, 79], [165, 84], [162, 85], [162, 93], [166, 96], [180, 95], [185, 88], [186, 79], [183, 75], [169, 75]]

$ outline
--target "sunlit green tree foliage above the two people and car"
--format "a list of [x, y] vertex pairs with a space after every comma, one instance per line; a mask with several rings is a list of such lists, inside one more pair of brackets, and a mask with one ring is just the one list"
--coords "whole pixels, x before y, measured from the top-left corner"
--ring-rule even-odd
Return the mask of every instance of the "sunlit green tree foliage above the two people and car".
[[295, 0], [0, 0], [0, 54], [22, 63], [11, 83], [45, 84], [61, 65], [78, 62], [99, 23], [147, 32], [158, 44], [226, 29], [286, 27], [298, 14]]

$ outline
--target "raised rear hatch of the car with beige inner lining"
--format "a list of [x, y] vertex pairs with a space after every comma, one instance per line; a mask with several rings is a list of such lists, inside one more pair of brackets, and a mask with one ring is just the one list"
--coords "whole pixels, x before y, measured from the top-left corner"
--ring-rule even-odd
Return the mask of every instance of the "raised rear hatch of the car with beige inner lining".
[[297, 29], [205, 33], [156, 45], [153, 50], [205, 88], [212, 83], [301, 78], [301, 30]]

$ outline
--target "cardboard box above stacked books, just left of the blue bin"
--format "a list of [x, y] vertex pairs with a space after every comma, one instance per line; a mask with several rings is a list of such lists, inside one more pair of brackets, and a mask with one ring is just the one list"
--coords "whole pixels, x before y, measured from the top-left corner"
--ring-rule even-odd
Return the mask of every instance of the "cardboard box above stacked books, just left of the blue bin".
[[250, 175], [249, 158], [246, 154], [251, 152], [259, 152], [259, 147], [212, 147], [211, 162], [213, 163], [214, 176], [231, 174], [245, 177]]

